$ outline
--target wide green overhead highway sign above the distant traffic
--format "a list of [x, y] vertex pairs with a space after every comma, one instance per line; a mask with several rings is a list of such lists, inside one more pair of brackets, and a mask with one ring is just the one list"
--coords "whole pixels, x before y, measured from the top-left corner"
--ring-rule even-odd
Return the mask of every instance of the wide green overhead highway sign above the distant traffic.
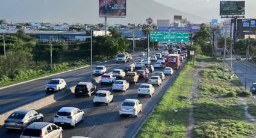
[[188, 42], [189, 32], [151, 31], [150, 41]]

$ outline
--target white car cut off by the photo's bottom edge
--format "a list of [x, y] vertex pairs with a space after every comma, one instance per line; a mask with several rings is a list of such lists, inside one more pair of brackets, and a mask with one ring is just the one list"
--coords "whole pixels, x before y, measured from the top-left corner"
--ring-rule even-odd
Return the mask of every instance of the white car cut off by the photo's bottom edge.
[[20, 138], [42, 137], [58, 138], [63, 137], [63, 129], [51, 122], [33, 122], [22, 132]]

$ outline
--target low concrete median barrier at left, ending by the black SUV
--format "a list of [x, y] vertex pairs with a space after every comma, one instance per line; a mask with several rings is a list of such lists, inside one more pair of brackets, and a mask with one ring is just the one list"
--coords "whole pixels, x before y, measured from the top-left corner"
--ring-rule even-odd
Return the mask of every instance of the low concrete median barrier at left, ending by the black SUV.
[[0, 125], [3, 125], [5, 119], [7, 119], [8, 116], [10, 116], [11, 113], [13, 113], [16, 110], [19, 110], [19, 109], [38, 110], [38, 109], [48, 106], [49, 104], [52, 104], [58, 100], [61, 100], [62, 98], [67, 97], [68, 95], [73, 94], [74, 92], [75, 92], [75, 86], [72, 86], [68, 89], [64, 89], [63, 91], [56, 92], [55, 94], [51, 94], [47, 97], [43, 97], [39, 100], [36, 100], [31, 103], [25, 104], [23, 106], [17, 107], [16, 109], [2, 113], [0, 115]]

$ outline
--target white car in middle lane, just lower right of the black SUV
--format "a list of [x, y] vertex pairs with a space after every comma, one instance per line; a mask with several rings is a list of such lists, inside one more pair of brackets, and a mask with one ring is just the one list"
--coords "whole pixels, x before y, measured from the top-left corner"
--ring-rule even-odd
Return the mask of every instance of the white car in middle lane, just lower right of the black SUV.
[[93, 105], [96, 105], [98, 103], [105, 103], [108, 106], [110, 102], [113, 102], [113, 98], [114, 95], [110, 91], [97, 91], [95, 96], [93, 97]]

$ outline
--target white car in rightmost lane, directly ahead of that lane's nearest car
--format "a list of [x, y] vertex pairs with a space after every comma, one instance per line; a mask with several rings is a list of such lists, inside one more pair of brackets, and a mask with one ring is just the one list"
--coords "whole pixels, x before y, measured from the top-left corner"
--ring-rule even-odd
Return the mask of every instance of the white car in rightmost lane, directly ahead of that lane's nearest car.
[[142, 85], [140, 85], [138, 89], [138, 96], [149, 95], [149, 97], [152, 97], [154, 92], [155, 92], [155, 88], [153, 85], [143, 83]]

